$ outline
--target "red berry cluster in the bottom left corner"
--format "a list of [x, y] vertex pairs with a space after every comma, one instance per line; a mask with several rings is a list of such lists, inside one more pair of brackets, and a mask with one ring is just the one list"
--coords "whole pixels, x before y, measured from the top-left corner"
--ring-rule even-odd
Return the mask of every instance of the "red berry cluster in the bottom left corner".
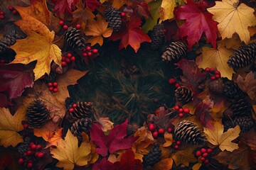
[[23, 154], [23, 157], [18, 159], [18, 164], [26, 166], [28, 169], [33, 167], [33, 162], [36, 159], [41, 159], [45, 155], [42, 152], [43, 147], [41, 145], [36, 145], [34, 142], [31, 142], [28, 151]]

